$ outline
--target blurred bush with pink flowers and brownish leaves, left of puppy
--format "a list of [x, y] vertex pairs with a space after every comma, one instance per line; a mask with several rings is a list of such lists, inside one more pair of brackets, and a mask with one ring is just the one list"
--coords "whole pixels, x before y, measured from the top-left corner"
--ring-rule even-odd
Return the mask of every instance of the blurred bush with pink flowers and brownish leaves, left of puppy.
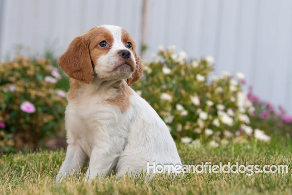
[[0, 152], [39, 148], [63, 130], [66, 94], [54, 89], [60, 78], [47, 59], [0, 65]]

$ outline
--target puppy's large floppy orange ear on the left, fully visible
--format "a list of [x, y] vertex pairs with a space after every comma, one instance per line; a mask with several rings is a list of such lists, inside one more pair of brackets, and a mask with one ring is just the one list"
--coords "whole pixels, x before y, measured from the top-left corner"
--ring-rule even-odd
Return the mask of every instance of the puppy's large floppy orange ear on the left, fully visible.
[[88, 40], [84, 35], [75, 37], [65, 53], [59, 58], [59, 66], [71, 78], [84, 83], [93, 80]]

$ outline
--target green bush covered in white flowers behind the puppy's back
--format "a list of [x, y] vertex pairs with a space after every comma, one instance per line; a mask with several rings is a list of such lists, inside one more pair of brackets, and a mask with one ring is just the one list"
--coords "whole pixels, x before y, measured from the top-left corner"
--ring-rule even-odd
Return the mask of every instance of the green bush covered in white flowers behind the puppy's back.
[[252, 136], [270, 139], [251, 126], [256, 109], [240, 89], [245, 82], [242, 73], [236, 80], [227, 72], [207, 79], [213, 70], [212, 57], [187, 61], [185, 52], [173, 53], [173, 46], [159, 49], [160, 60], [146, 64], [145, 78], [133, 88], [139, 89], [137, 93], [157, 111], [175, 139], [189, 143], [201, 138], [214, 146]]

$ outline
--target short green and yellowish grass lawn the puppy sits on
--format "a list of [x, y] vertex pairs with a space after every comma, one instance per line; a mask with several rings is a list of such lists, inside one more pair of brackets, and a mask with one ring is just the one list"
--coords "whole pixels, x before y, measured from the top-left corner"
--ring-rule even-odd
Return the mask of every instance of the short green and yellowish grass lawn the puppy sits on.
[[290, 138], [273, 138], [270, 143], [251, 141], [250, 144], [229, 144], [198, 149], [178, 144], [178, 152], [185, 164], [231, 162], [239, 164], [287, 164], [288, 173], [195, 173], [171, 178], [158, 175], [152, 181], [145, 177], [109, 177], [88, 184], [85, 171], [54, 184], [65, 151], [37, 151], [33, 153], [0, 155], [0, 194], [292, 194], [292, 143]]

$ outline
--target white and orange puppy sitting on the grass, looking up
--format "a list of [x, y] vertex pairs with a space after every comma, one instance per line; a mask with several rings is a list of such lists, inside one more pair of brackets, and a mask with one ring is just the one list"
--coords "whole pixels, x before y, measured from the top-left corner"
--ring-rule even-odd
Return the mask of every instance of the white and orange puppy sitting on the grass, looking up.
[[[147, 162], [181, 164], [166, 124], [129, 86], [143, 73], [135, 41], [118, 26], [102, 25], [73, 39], [59, 59], [71, 77], [65, 111], [67, 152], [56, 177], [88, 165], [89, 181], [147, 170]], [[125, 81], [126, 80], [126, 81]]]

